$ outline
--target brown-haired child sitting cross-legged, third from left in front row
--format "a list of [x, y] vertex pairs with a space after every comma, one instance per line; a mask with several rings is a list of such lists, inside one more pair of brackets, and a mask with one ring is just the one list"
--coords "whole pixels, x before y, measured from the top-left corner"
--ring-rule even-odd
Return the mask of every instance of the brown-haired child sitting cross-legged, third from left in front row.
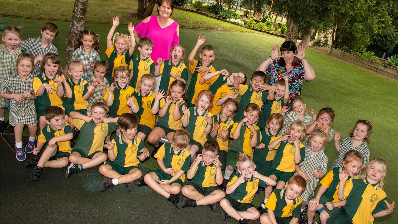
[[144, 141], [135, 135], [138, 123], [135, 114], [125, 113], [117, 119], [122, 134], [106, 143], [110, 162], [100, 166], [100, 173], [105, 176], [100, 192], [119, 184], [125, 184], [129, 192], [134, 191], [137, 180], [142, 176], [138, 165], [149, 156]]

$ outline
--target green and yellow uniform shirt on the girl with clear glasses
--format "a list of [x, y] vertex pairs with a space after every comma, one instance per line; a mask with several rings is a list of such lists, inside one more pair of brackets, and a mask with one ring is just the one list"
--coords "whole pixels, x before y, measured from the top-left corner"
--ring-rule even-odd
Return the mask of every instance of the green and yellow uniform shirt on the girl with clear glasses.
[[[103, 96], [103, 100], [108, 98], [109, 95], [109, 90], [111, 88], [108, 88], [108, 90], [105, 93], [105, 96]], [[109, 107], [109, 117], [115, 118], [118, 117], [124, 113], [129, 112], [129, 106], [127, 106], [127, 100], [130, 98], [131, 94], [133, 94], [134, 88], [129, 86], [128, 84], [121, 88], [118, 83], [116, 83], [116, 88], [113, 90], [112, 94], [112, 106]]]

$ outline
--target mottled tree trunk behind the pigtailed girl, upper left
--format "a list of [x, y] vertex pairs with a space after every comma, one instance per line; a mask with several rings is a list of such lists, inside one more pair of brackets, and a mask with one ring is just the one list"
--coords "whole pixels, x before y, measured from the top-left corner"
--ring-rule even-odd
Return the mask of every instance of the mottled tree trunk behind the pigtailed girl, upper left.
[[65, 67], [72, 59], [76, 36], [84, 29], [88, 0], [75, 0], [72, 20], [70, 21], [65, 43]]

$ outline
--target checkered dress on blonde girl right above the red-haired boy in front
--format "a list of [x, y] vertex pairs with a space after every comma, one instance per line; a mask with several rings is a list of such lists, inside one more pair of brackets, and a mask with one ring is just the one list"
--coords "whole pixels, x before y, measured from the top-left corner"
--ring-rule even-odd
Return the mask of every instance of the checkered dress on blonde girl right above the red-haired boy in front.
[[[318, 172], [326, 174], [328, 171], [328, 157], [324, 151], [319, 150], [315, 155], [312, 154], [311, 147], [305, 147], [305, 159], [299, 166], [301, 171], [308, 175], [307, 187], [305, 191], [300, 195], [301, 199], [308, 204], [308, 198], [314, 195], [316, 186], [319, 183], [319, 179], [314, 177], [314, 169], [318, 167]], [[297, 172], [295, 172], [297, 174]]]

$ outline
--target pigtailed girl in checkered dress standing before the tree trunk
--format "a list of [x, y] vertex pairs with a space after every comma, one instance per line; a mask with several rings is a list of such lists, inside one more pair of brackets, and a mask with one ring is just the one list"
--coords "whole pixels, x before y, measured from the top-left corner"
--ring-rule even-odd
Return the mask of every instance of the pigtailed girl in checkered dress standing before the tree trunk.
[[84, 65], [83, 79], [88, 80], [93, 77], [93, 67], [97, 61], [100, 61], [100, 35], [94, 33], [91, 29], [80, 31], [74, 51], [72, 61], [81, 61]]

